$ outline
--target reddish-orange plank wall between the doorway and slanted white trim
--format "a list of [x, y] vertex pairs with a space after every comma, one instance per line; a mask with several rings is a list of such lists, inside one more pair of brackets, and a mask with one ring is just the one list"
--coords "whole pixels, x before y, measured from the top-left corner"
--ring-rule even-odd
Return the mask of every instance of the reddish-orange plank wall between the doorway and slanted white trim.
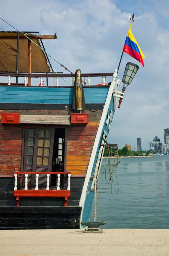
[[71, 171], [74, 177], [86, 176], [102, 110], [85, 110], [85, 113], [89, 115], [87, 125], [68, 127], [66, 170]]

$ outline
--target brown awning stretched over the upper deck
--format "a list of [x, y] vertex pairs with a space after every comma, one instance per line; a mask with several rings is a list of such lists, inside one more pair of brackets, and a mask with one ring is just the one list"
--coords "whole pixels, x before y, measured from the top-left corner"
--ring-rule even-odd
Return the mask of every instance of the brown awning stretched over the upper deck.
[[[43, 36], [31, 35], [29, 37], [40, 46], [38, 38], [43, 39]], [[33, 43], [31, 52], [32, 72], [50, 72], [44, 52]], [[16, 56], [17, 33], [0, 33], [0, 72], [16, 72]], [[19, 33], [18, 72], [28, 72], [28, 39], [23, 33]]]

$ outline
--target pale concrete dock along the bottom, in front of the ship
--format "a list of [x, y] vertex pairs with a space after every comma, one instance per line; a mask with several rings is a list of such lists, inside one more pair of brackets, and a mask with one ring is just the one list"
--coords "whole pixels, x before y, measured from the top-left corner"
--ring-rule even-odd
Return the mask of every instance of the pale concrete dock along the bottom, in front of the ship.
[[0, 256], [163, 256], [169, 255], [169, 229], [1, 230]]

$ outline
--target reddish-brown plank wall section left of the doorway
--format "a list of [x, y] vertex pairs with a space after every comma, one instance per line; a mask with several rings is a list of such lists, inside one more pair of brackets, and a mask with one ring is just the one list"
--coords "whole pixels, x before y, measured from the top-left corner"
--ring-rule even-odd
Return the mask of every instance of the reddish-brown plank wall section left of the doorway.
[[0, 175], [20, 171], [22, 132], [22, 125], [4, 125], [0, 120]]

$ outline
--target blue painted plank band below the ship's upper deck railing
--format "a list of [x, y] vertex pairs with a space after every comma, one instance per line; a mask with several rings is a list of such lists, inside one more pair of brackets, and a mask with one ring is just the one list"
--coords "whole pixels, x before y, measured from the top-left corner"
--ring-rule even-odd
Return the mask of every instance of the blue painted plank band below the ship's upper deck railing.
[[[72, 104], [73, 87], [0, 87], [0, 102], [32, 104]], [[84, 87], [86, 103], [104, 104], [109, 87]]]

